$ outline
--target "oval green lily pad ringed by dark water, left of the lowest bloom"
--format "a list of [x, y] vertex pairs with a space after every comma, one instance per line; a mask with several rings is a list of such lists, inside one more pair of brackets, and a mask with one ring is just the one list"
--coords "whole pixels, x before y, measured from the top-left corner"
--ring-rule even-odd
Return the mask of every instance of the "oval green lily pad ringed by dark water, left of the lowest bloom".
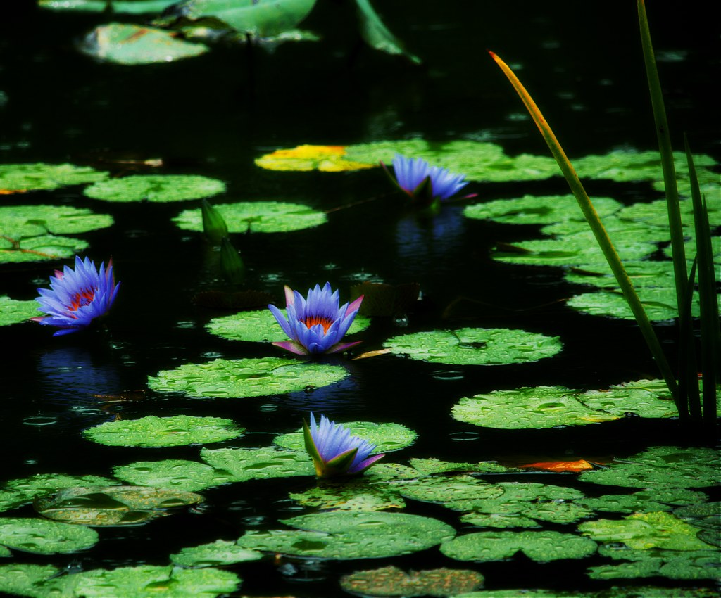
[[179, 447], [222, 442], [239, 437], [244, 428], [231, 419], [177, 415], [106, 421], [84, 431], [85, 437], [112, 447]]

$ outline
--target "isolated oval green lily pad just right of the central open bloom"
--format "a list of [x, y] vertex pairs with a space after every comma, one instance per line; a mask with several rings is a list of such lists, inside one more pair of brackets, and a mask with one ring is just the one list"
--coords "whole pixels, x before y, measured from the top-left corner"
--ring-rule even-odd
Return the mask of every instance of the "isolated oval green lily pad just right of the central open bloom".
[[394, 336], [383, 344], [394, 354], [448, 365], [534, 362], [561, 350], [558, 336], [523, 330], [464, 328]]

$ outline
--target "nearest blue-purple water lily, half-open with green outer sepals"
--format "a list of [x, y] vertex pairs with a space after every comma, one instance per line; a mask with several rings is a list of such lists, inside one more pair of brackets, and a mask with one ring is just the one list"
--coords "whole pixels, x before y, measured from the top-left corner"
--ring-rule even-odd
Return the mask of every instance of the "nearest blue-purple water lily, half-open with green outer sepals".
[[306, 451], [313, 459], [319, 478], [342, 476], [344, 474], [363, 473], [385, 455], [373, 455], [376, 445], [358, 436], [351, 436], [350, 429], [342, 424], [320, 416], [320, 425], [316, 424], [311, 413], [310, 426], [303, 422], [303, 435]]

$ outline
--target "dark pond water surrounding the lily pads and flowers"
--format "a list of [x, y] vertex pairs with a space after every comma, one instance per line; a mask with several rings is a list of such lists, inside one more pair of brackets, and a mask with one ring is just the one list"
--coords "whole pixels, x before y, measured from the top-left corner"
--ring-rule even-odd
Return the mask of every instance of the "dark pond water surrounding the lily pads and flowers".
[[[381, 4], [377, 2], [376, 4]], [[291, 432], [309, 409], [336, 421], [388, 421], [414, 429], [412, 447], [389, 455], [442, 460], [593, 460], [633, 455], [653, 445], [683, 444], [674, 420], [625, 419], [595, 426], [513, 431], [472, 427], [451, 418], [459, 398], [521, 385], [607, 388], [658, 372], [632, 324], [571, 311], [575, 287], [562, 271], [493, 262], [499, 242], [528, 238], [536, 228], [502, 226], [461, 217], [447, 206], [435, 220], [419, 220], [378, 169], [353, 173], [273, 172], [254, 159], [303, 143], [351, 144], [422, 137], [490, 140], [506, 153], [546, 155], [534, 125], [485, 52], [518, 68], [567, 153], [585, 156], [614, 148], [653, 149], [655, 133], [642, 67], [634, 5], [629, 2], [396, 1], [382, 8], [386, 24], [423, 58], [413, 66], [371, 50], [356, 39], [352, 6], [321, 1], [304, 23], [320, 43], [288, 43], [274, 53], [216, 48], [200, 58], [159, 66], [96, 63], [74, 40], [107, 19], [60, 14], [28, 2], [0, 20], [0, 162], [73, 162], [135, 170], [118, 159], [156, 159], [163, 174], [203, 174], [226, 182], [214, 201], [280, 200], [333, 210], [329, 223], [294, 233], [234, 236], [248, 267], [246, 286], [283, 300], [283, 285], [304, 291], [326, 280], [344, 300], [359, 277], [392, 284], [418, 282], [423, 299], [404, 321], [373, 321], [363, 350], [379, 349], [397, 334], [436, 327], [522, 328], [560, 336], [564, 350], [526, 365], [458, 367], [390, 355], [352, 362], [344, 382], [308, 393], [236, 399], [190, 399], [146, 392], [121, 403], [96, 395], [146, 391], [147, 377], [215, 357], [278, 355], [270, 345], [231, 342], [205, 331], [222, 312], [193, 303], [203, 290], [223, 287], [208, 267], [208, 249], [196, 233], [171, 218], [190, 204], [114, 204], [82, 195], [79, 187], [9, 196], [4, 202], [90, 207], [115, 218], [112, 228], [87, 233], [97, 262], [112, 254], [122, 289], [107, 331], [53, 338], [32, 323], [0, 330], [5, 447], [1, 479], [35, 473], [112, 475], [113, 465], [148, 459], [197, 459], [198, 447], [135, 449], [88, 442], [81, 431], [115, 417], [149, 414], [223, 416], [248, 434], [229, 447], [270, 445]], [[17, 7], [16, 7], [17, 8]], [[379, 6], [379, 9], [381, 7]], [[717, 31], [711, 15], [689, 8], [651, 6], [651, 27], [665, 84], [674, 142], [689, 135], [698, 153], [721, 155], [717, 95]], [[145, 172], [142, 171], [141, 172]], [[560, 178], [543, 182], [472, 182], [479, 200], [567, 192]], [[590, 195], [624, 203], [660, 197], [650, 184], [593, 182]], [[336, 210], [338, 207], [372, 201]], [[0, 293], [32, 299], [59, 263], [10, 264], [0, 269]], [[660, 336], [673, 354], [672, 326]], [[356, 351], [358, 352], [358, 351]], [[152, 453], [152, 454], [150, 454]], [[558, 474], [556, 474], [558, 475]], [[521, 481], [562, 483], [598, 492], [565, 476], [524, 474]], [[277, 527], [278, 519], [308, 509], [289, 491], [314, 486], [311, 478], [235, 483], [204, 491], [206, 504], [141, 527], [100, 530], [87, 553], [19, 562], [84, 569], [167, 564], [180, 548], [245, 530]], [[611, 488], [612, 490], [613, 488]], [[608, 490], [611, 492], [611, 490]], [[461, 533], [472, 526], [441, 506], [415, 502], [408, 512], [441, 519]], [[31, 506], [12, 512], [33, 517]], [[572, 531], [573, 525], [551, 526]], [[437, 548], [389, 561], [267, 560], [234, 566], [241, 594], [335, 596], [338, 579], [353, 571], [395, 564], [404, 569], [471, 568], [487, 589], [520, 586], [594, 591], [613, 585], [712, 587], [712, 581], [591, 580], [588, 566], [607, 560], [539, 564], [521, 555], [492, 563], [462, 563]], [[522, 580], [522, 581], [521, 581]]]

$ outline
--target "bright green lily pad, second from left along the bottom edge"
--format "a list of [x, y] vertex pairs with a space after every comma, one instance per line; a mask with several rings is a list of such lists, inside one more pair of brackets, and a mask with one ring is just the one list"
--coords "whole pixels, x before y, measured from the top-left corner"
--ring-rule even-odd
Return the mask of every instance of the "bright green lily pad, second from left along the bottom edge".
[[235, 592], [241, 579], [215, 568], [181, 569], [141, 565], [80, 574], [78, 595], [83, 598], [216, 598]]

